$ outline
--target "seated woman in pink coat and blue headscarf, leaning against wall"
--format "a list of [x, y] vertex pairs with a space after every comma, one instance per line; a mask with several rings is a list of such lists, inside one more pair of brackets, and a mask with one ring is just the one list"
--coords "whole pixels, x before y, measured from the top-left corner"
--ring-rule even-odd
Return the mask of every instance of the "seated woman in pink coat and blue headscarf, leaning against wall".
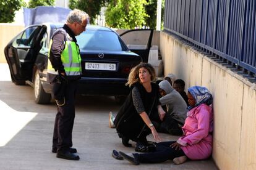
[[189, 111], [184, 126], [184, 136], [176, 142], [156, 144], [156, 151], [150, 153], [119, 152], [122, 158], [132, 164], [160, 163], [173, 160], [175, 164], [184, 163], [187, 158], [203, 160], [211, 155], [213, 131], [212, 97], [205, 87], [194, 86], [188, 89]]

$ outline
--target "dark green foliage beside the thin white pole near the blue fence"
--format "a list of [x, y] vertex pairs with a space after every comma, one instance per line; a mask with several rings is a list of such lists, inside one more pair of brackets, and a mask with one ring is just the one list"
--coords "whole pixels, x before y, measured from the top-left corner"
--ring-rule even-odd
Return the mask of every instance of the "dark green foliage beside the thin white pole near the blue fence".
[[[147, 0], [148, 4], [145, 6], [145, 10], [149, 17], [145, 18], [146, 25], [150, 28], [156, 28], [156, 9], [157, 0]], [[162, 10], [161, 10], [161, 25], [163, 25], [163, 14], [164, 14], [164, 0], [162, 0]]]

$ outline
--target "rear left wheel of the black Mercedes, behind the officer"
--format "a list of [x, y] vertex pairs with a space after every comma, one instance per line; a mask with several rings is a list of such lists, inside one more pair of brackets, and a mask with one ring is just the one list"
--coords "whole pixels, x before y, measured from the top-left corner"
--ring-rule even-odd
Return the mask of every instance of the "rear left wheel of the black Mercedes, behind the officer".
[[34, 78], [34, 95], [35, 102], [38, 104], [48, 104], [51, 100], [51, 94], [46, 93], [43, 89], [38, 70], [36, 70]]

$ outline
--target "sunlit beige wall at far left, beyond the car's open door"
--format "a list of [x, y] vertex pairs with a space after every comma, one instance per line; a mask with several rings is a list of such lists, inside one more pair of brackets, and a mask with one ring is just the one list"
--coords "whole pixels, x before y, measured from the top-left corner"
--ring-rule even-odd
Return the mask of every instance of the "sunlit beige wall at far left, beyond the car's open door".
[[12, 23], [0, 23], [0, 63], [6, 63], [4, 56], [4, 47], [12, 38], [24, 28], [23, 25], [15, 25]]

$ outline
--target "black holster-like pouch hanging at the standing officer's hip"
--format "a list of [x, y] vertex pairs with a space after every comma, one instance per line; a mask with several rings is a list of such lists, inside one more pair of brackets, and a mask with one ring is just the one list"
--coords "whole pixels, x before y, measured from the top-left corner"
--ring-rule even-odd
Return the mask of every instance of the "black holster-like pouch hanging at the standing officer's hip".
[[65, 89], [67, 86], [66, 79], [62, 76], [56, 76], [53, 82], [53, 99], [58, 106], [65, 105]]

